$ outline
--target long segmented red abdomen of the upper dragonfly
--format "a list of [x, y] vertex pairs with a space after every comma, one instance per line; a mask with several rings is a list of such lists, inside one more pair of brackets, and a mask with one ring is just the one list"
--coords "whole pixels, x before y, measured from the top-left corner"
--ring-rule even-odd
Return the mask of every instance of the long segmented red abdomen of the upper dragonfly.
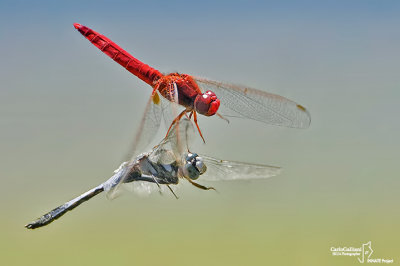
[[163, 76], [160, 71], [139, 61], [106, 36], [78, 23], [74, 27], [103, 53], [150, 86]]

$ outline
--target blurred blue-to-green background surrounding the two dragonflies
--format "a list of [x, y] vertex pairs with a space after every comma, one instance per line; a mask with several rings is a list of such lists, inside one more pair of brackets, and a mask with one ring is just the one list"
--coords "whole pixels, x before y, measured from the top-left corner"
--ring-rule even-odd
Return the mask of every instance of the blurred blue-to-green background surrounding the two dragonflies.
[[[0, 0], [2, 265], [355, 265], [399, 261], [398, 1]], [[293, 99], [309, 129], [200, 117], [198, 152], [284, 168], [263, 181], [126, 193], [23, 226], [118, 167], [150, 88], [74, 28], [163, 72]], [[210, 184], [209, 184], [210, 185]]]

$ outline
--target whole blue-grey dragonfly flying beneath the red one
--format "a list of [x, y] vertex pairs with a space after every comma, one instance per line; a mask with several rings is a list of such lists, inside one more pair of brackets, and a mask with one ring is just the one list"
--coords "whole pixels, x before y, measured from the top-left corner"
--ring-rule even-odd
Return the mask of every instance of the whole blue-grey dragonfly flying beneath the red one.
[[219, 160], [190, 152], [188, 147], [193, 136], [192, 122], [187, 118], [182, 119], [151, 151], [122, 163], [104, 183], [51, 210], [25, 227], [35, 229], [45, 226], [103, 191], [114, 198], [121, 191], [120, 187], [129, 183], [141, 184], [147, 188], [156, 187], [159, 191], [167, 187], [177, 198], [172, 186], [177, 185], [180, 179], [187, 180], [197, 188], [209, 190], [214, 188], [201, 185], [197, 180], [262, 179], [280, 173], [279, 167]]

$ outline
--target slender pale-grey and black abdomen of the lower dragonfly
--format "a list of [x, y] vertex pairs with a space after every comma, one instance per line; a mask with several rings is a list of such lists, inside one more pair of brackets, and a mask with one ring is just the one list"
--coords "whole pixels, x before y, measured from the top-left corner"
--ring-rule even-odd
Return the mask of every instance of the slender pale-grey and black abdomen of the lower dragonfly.
[[79, 197], [76, 197], [75, 199], [70, 200], [67, 203], [64, 203], [63, 205], [58, 206], [57, 208], [46, 213], [45, 215], [43, 215], [36, 221], [25, 225], [25, 227], [28, 229], [35, 229], [38, 227], [45, 226], [45, 225], [53, 222], [54, 220], [60, 218], [68, 211], [73, 210], [74, 208], [81, 205], [83, 202], [88, 201], [89, 199], [93, 198], [94, 196], [96, 196], [97, 194], [99, 194], [103, 191], [104, 191], [104, 185], [101, 184], [101, 185], [83, 193]]

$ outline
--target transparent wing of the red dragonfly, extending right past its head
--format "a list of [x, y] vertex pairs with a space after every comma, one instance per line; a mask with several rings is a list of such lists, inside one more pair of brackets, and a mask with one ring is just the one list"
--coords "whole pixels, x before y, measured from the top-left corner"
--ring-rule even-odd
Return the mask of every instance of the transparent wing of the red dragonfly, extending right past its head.
[[267, 124], [307, 128], [311, 117], [305, 107], [282, 96], [194, 77], [203, 90], [213, 91], [221, 101], [219, 113], [224, 116], [249, 118]]

